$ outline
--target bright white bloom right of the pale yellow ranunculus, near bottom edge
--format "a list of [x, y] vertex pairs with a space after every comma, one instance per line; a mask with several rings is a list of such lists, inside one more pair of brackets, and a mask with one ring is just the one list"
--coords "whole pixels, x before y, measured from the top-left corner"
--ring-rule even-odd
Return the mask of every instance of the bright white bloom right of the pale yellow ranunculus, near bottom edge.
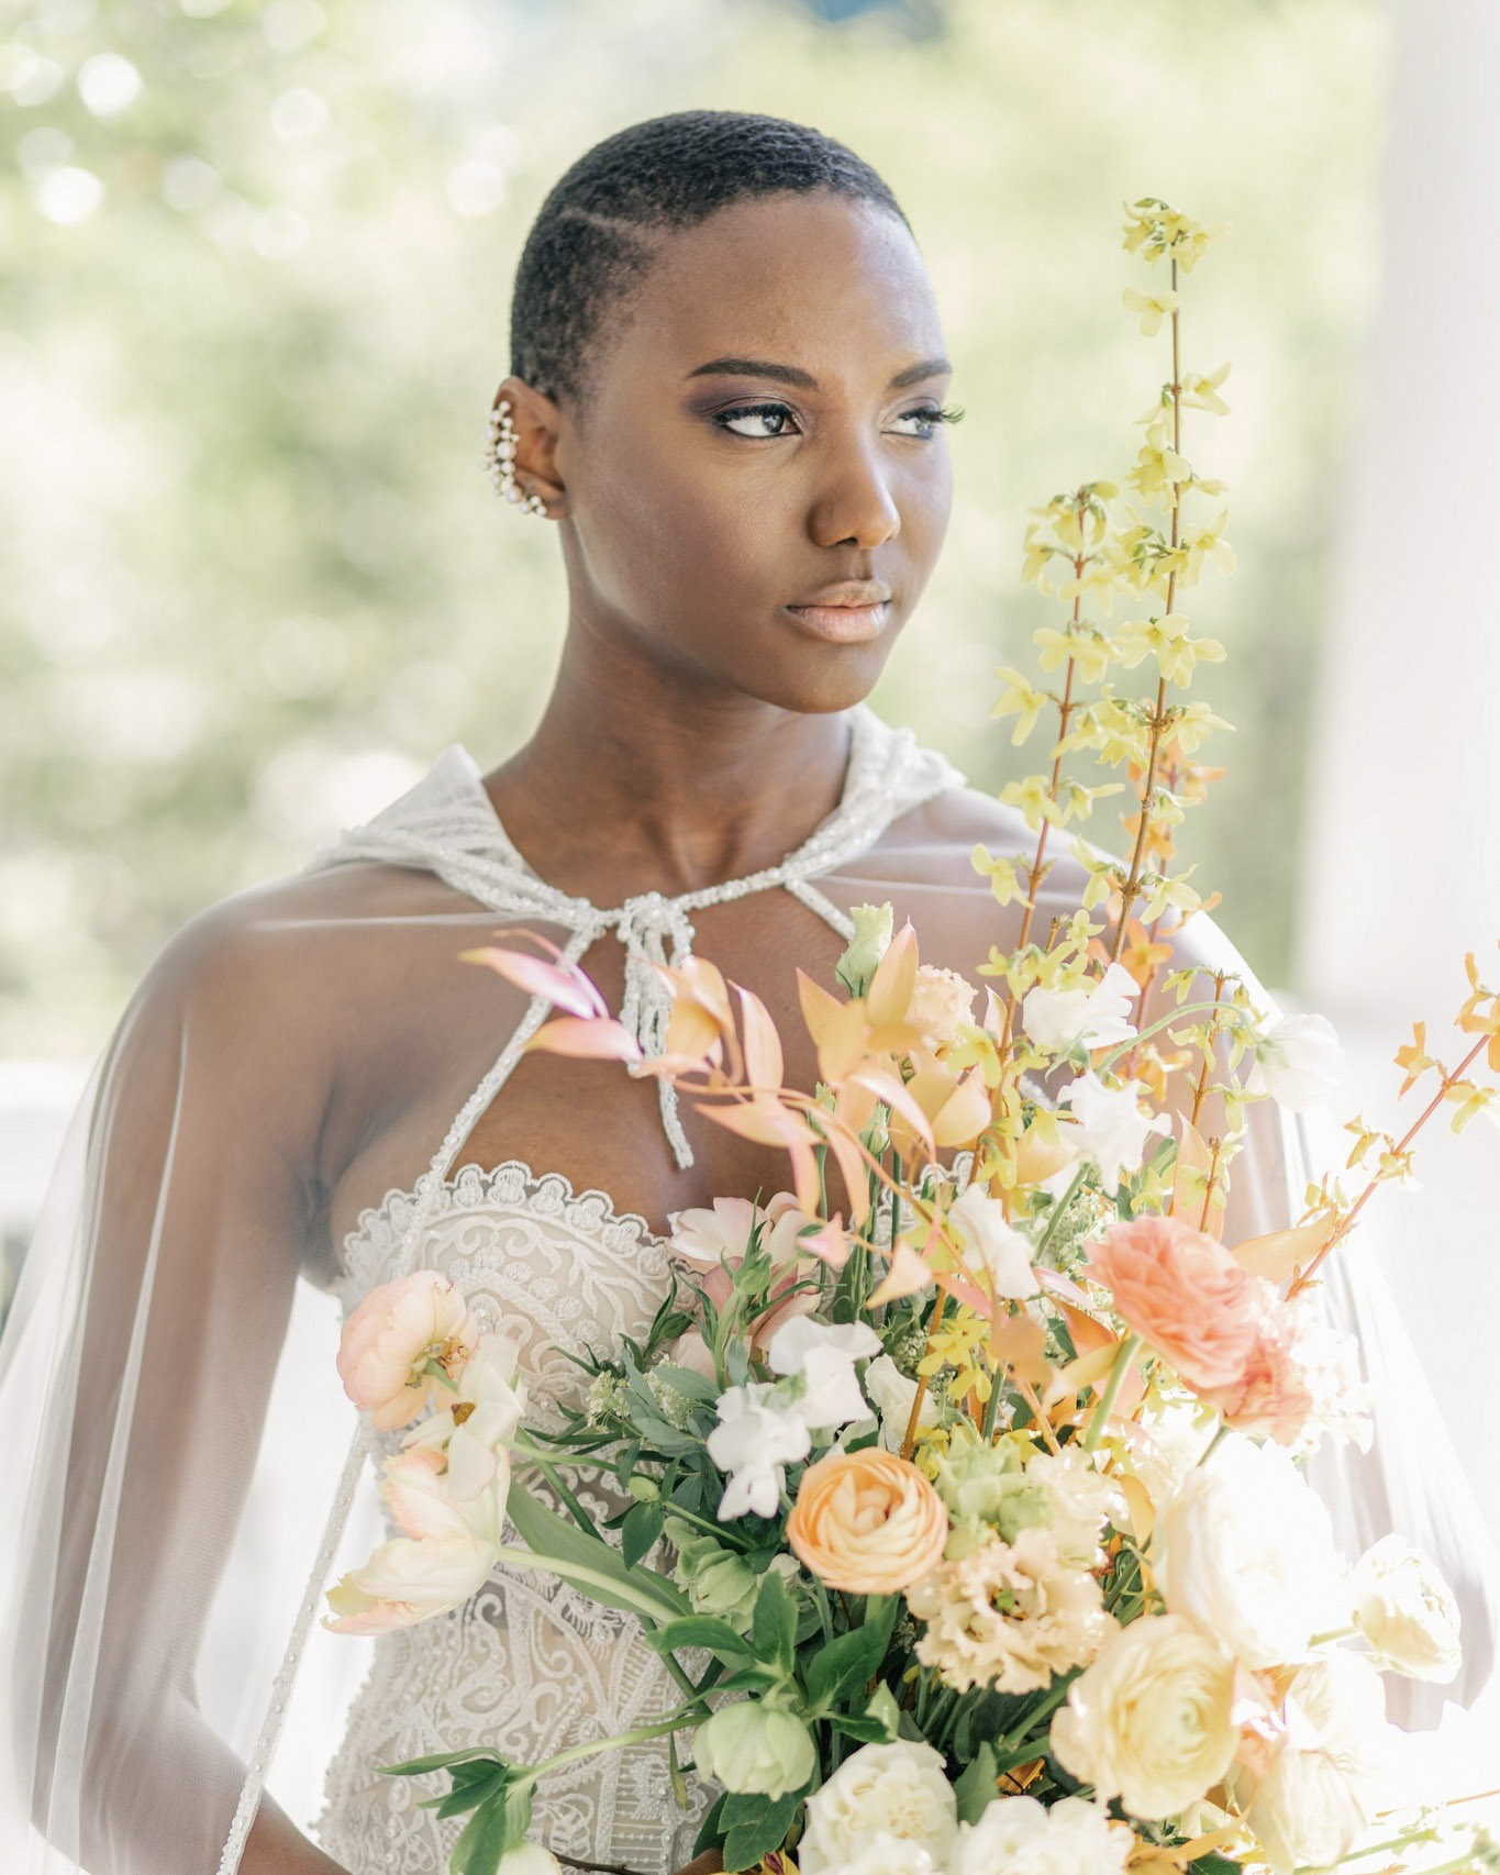
[[[1329, 1868], [1374, 1815], [1391, 1742], [1380, 1674], [1358, 1654], [1301, 1667], [1286, 1689], [1286, 1732], [1264, 1778], [1249, 1791], [1247, 1819], [1279, 1875]], [[1236, 1770], [1241, 1802], [1251, 1778]]]

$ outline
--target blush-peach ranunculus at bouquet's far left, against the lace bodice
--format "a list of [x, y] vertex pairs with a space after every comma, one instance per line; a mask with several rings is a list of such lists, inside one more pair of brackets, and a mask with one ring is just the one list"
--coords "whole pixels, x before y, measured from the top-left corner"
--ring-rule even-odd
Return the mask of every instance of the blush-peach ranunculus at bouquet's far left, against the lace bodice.
[[373, 1288], [343, 1324], [343, 1391], [388, 1432], [407, 1425], [435, 1395], [439, 1367], [454, 1380], [478, 1346], [480, 1324], [463, 1292], [437, 1269], [414, 1269]]

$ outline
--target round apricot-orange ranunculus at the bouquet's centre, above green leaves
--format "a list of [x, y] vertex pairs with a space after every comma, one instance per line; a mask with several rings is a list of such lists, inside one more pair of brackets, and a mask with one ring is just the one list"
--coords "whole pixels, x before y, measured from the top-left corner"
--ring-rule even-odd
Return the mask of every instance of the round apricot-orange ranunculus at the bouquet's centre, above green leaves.
[[829, 1588], [892, 1596], [938, 1566], [949, 1513], [909, 1459], [831, 1451], [802, 1474], [786, 1539]]

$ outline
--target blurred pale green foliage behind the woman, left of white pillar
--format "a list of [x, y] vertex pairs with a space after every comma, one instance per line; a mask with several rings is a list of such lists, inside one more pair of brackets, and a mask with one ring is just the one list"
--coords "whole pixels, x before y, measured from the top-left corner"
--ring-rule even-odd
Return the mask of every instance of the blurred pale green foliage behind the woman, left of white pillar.
[[1121, 201], [1232, 223], [1183, 324], [1234, 360], [1189, 448], [1238, 733], [1185, 851], [1284, 981], [1388, 52], [1378, 0], [0, 0], [0, 1052], [92, 1054], [195, 909], [527, 733], [564, 589], [480, 467], [510, 274], [574, 156], [694, 105], [842, 137], [917, 229], [969, 418], [874, 701], [982, 788], [1033, 754], [988, 720], [1052, 617], [1026, 510], [1166, 375]]

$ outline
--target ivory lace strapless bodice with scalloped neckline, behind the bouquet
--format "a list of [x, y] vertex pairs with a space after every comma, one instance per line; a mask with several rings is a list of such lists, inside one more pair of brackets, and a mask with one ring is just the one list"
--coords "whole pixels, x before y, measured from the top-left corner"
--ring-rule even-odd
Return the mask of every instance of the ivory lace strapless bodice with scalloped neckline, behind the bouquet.
[[[360, 1213], [330, 1284], [345, 1314], [396, 1273], [416, 1206], [414, 1192], [390, 1191]], [[604, 1192], [576, 1192], [559, 1174], [538, 1178], [519, 1161], [493, 1172], [465, 1166], [444, 1181], [416, 1258], [458, 1282], [486, 1328], [518, 1335], [529, 1425], [549, 1423], [557, 1402], [583, 1404], [589, 1380], [568, 1354], [619, 1356], [624, 1335], [645, 1335], [671, 1264], [645, 1219], [617, 1213]], [[399, 1438], [382, 1434], [373, 1461]], [[570, 1470], [570, 1481], [591, 1513], [609, 1515], [626, 1502], [596, 1472]], [[506, 1541], [519, 1543], [510, 1526]], [[666, 1562], [658, 1543], [641, 1568]], [[463, 1819], [437, 1822], [420, 1800], [446, 1791], [446, 1776], [384, 1778], [379, 1764], [474, 1744], [534, 1762], [641, 1725], [679, 1701], [634, 1616], [600, 1609], [544, 1571], [501, 1568], [463, 1607], [375, 1642], [328, 1770], [319, 1841], [351, 1875], [439, 1875]], [[679, 1744], [686, 1757], [688, 1740]], [[681, 1809], [668, 1740], [652, 1738], [549, 1774], [536, 1791], [531, 1836], [587, 1868], [669, 1875], [690, 1860], [714, 1792], [688, 1774]]]

